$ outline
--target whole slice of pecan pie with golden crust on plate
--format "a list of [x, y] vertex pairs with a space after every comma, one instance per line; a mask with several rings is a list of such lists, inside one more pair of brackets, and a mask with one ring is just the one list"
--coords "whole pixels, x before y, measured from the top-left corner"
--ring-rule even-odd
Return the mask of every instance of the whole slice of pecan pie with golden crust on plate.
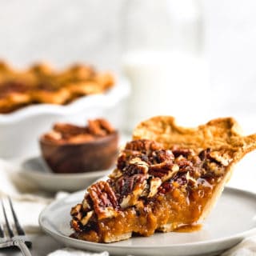
[[71, 210], [73, 238], [115, 242], [201, 222], [222, 193], [231, 171], [256, 148], [233, 118], [189, 129], [155, 117], [134, 130], [109, 179], [90, 186]]

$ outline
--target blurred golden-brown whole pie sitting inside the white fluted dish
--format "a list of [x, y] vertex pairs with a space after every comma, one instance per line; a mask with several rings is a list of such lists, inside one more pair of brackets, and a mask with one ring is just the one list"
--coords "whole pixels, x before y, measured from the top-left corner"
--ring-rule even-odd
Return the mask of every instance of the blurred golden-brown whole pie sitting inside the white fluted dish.
[[58, 72], [45, 63], [15, 70], [0, 62], [0, 114], [40, 103], [64, 105], [81, 96], [102, 94], [112, 86], [112, 74], [82, 64]]

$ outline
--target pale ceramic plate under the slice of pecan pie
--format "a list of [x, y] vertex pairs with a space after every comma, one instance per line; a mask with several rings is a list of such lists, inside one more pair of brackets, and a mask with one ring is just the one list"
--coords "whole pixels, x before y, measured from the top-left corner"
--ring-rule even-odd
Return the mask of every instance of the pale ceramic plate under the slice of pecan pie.
[[107, 250], [112, 255], [215, 255], [256, 234], [256, 194], [226, 188], [202, 230], [193, 233], [158, 233], [149, 238], [134, 237], [110, 244], [69, 238], [70, 209], [81, 202], [84, 191], [53, 202], [39, 216], [39, 223], [66, 246], [83, 250]]

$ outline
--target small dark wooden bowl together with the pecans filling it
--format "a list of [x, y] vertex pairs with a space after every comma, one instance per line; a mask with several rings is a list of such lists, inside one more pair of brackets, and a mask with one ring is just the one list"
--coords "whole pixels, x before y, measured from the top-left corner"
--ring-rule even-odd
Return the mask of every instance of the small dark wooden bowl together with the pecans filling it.
[[118, 153], [118, 131], [105, 119], [88, 126], [57, 123], [40, 138], [42, 157], [55, 173], [106, 170]]

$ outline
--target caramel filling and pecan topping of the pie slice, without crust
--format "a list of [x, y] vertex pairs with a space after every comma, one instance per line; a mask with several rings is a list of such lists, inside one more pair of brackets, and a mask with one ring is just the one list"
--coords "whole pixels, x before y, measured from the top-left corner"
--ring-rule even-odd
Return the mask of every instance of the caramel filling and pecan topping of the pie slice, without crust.
[[72, 208], [71, 236], [113, 242], [194, 225], [225, 170], [226, 163], [211, 153], [165, 150], [146, 139], [128, 142], [109, 179], [90, 186]]

